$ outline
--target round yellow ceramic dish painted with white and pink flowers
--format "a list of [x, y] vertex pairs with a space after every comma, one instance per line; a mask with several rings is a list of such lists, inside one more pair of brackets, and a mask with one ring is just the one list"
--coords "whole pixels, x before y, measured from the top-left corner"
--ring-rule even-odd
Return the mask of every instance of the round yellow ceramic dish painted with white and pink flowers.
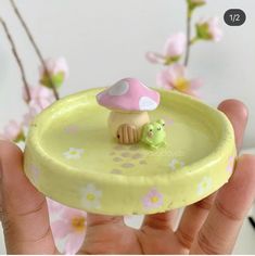
[[119, 145], [107, 129], [102, 89], [66, 97], [36, 117], [25, 172], [47, 196], [91, 213], [153, 214], [192, 204], [231, 176], [233, 129], [219, 111], [177, 92], [160, 91], [151, 119], [166, 123], [167, 145]]

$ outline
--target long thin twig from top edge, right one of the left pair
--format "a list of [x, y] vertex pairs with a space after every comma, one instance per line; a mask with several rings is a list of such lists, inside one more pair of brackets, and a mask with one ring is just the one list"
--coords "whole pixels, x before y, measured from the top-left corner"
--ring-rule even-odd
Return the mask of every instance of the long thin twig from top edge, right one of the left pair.
[[39, 57], [39, 60], [40, 60], [40, 62], [41, 62], [41, 65], [42, 65], [42, 67], [43, 67], [43, 69], [44, 69], [44, 72], [46, 72], [47, 77], [49, 77], [49, 81], [50, 81], [51, 88], [52, 88], [52, 90], [53, 90], [55, 100], [59, 100], [59, 99], [60, 99], [59, 93], [58, 93], [58, 91], [56, 91], [56, 89], [55, 89], [54, 82], [52, 81], [50, 72], [48, 71], [48, 68], [47, 68], [47, 66], [46, 66], [44, 59], [43, 59], [43, 56], [42, 56], [42, 54], [41, 54], [41, 51], [40, 51], [39, 47], [37, 46], [35, 39], [34, 39], [34, 37], [33, 37], [33, 35], [31, 35], [31, 33], [30, 33], [30, 30], [29, 30], [29, 28], [28, 28], [26, 22], [24, 21], [24, 18], [23, 18], [23, 16], [22, 16], [21, 12], [18, 11], [18, 9], [17, 9], [17, 7], [16, 7], [14, 0], [10, 0], [10, 2], [11, 2], [11, 4], [12, 4], [12, 8], [13, 8], [15, 14], [17, 15], [20, 22], [22, 23], [22, 25], [23, 25], [23, 27], [24, 27], [24, 29], [25, 29], [25, 31], [26, 31], [26, 34], [27, 34], [27, 36], [28, 36], [28, 38], [29, 38], [29, 40], [30, 40], [30, 42], [31, 42], [31, 44], [33, 44], [33, 47], [34, 47], [34, 49], [35, 49], [35, 51], [36, 51], [38, 57]]

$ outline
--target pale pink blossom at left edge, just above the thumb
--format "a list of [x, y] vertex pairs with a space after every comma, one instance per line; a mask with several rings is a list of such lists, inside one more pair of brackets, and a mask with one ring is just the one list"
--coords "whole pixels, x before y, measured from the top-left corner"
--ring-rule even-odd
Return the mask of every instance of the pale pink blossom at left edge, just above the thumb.
[[23, 133], [22, 124], [15, 120], [10, 120], [9, 124], [3, 128], [3, 133], [0, 137], [4, 140], [18, 142], [25, 140]]

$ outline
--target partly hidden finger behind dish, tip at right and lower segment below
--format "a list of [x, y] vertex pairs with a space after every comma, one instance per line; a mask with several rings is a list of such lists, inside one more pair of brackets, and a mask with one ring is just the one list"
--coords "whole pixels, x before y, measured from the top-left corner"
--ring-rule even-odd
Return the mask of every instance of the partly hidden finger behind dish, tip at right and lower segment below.
[[[237, 148], [240, 149], [244, 130], [247, 123], [247, 110], [238, 100], [226, 100], [219, 104], [218, 108], [224, 112], [231, 121], [235, 136]], [[193, 205], [188, 206], [182, 215], [176, 235], [180, 243], [190, 248], [201, 226], [204, 223], [214, 203], [215, 195], [211, 195]], [[191, 221], [192, 220], [192, 221]]]

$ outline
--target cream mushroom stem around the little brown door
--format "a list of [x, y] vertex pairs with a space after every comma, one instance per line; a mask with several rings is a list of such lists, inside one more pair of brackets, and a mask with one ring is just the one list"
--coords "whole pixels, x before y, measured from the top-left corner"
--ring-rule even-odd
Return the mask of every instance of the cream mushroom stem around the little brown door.
[[[117, 112], [112, 111], [109, 116], [109, 128], [114, 138], [118, 138], [118, 129], [123, 125], [128, 125], [132, 129], [135, 129], [138, 140], [141, 138], [142, 127], [150, 123], [150, 117], [148, 112]], [[122, 140], [120, 140], [122, 141]], [[132, 141], [128, 142], [125, 140], [127, 144], [133, 143]]]

